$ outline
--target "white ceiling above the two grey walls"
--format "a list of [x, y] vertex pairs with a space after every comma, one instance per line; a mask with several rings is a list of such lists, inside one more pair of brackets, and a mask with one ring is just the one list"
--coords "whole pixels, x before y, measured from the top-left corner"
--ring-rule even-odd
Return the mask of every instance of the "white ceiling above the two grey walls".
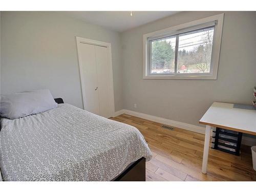
[[173, 15], [178, 11], [68, 11], [66, 15], [96, 24], [114, 31], [123, 32], [154, 20]]

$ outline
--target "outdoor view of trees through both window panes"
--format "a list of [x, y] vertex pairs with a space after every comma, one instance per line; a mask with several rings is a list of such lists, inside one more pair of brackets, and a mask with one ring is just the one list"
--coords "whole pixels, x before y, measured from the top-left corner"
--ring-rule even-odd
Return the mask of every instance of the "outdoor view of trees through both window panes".
[[214, 27], [151, 41], [151, 73], [175, 73], [176, 38], [177, 73], [209, 73]]

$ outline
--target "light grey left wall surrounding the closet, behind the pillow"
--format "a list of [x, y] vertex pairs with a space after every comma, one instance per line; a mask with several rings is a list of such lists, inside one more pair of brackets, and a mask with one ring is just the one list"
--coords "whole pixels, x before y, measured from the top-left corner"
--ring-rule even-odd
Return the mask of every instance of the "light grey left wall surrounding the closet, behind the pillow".
[[115, 110], [122, 109], [120, 33], [55, 12], [2, 12], [2, 94], [49, 88], [82, 108], [75, 36], [112, 44]]

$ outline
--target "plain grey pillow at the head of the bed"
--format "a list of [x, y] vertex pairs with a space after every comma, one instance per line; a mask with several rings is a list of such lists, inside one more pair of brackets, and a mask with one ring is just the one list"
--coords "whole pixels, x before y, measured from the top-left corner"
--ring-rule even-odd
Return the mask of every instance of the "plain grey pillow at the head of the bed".
[[48, 89], [1, 95], [0, 115], [17, 119], [57, 108]]

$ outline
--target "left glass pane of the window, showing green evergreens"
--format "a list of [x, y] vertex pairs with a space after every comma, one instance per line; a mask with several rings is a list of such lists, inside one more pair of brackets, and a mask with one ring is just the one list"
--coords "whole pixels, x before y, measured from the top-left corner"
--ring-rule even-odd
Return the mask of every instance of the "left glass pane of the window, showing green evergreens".
[[151, 41], [151, 73], [174, 73], [175, 37], [166, 37]]

